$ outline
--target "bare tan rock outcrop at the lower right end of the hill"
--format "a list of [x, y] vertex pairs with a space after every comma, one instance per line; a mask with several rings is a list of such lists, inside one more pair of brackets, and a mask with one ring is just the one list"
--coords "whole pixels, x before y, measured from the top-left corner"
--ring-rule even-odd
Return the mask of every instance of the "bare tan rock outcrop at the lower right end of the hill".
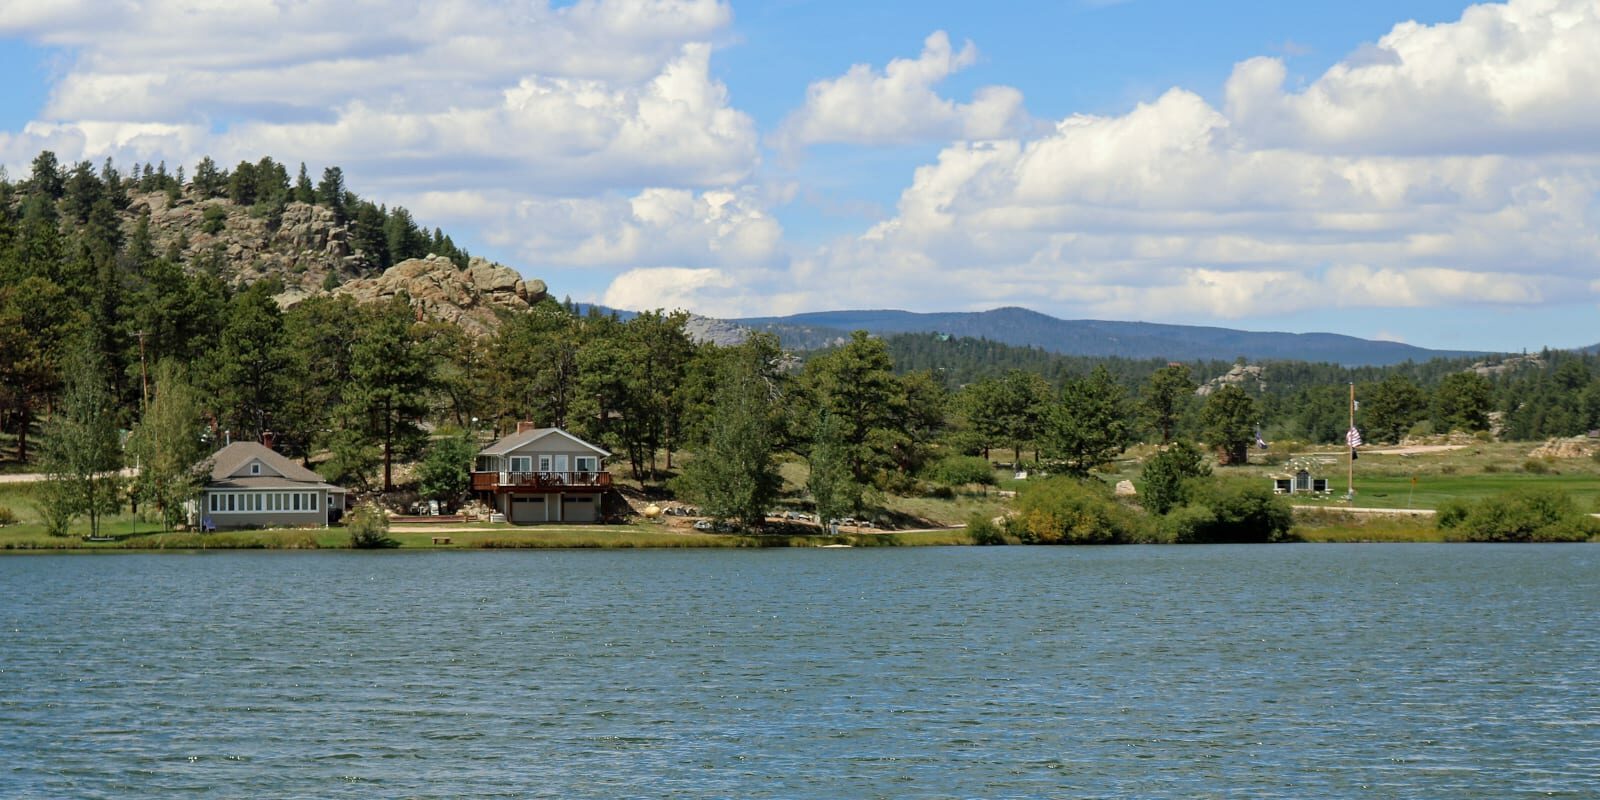
[[349, 294], [357, 302], [382, 302], [405, 294], [418, 315], [459, 325], [483, 336], [499, 325], [501, 310], [528, 310], [546, 296], [542, 280], [523, 280], [517, 270], [474, 258], [467, 269], [456, 269], [443, 256], [402, 261], [381, 275], [342, 283], [333, 294]]

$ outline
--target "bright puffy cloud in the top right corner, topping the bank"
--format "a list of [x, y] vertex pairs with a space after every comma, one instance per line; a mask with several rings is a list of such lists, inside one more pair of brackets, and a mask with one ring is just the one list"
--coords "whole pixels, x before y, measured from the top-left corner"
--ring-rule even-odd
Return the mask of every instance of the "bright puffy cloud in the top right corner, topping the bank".
[[1512, 0], [1403, 22], [1302, 91], [1280, 59], [1238, 64], [1227, 115], [1261, 146], [1374, 154], [1594, 152], [1600, 3]]

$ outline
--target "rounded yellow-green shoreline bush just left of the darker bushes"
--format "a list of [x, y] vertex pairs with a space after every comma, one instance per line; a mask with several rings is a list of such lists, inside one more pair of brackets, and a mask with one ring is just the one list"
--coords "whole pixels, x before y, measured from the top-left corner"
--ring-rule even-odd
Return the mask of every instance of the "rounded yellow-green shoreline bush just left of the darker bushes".
[[1099, 480], [1067, 477], [1030, 483], [1006, 528], [1024, 544], [1126, 544], [1146, 539], [1144, 520]]

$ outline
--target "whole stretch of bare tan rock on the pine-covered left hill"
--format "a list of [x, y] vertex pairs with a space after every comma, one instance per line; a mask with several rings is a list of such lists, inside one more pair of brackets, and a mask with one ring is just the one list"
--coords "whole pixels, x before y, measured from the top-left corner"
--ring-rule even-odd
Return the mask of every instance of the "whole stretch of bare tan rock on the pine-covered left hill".
[[291, 202], [278, 219], [227, 198], [147, 192], [131, 198], [126, 234], [149, 214], [157, 253], [176, 251], [189, 264], [213, 266], [224, 280], [254, 283], [275, 278], [283, 307], [320, 294], [349, 294], [378, 302], [405, 293], [422, 315], [461, 325], [472, 334], [491, 333], [498, 310], [526, 310], [546, 298], [542, 280], [472, 258], [461, 269], [429, 254], [379, 269], [373, 254], [352, 245], [350, 226], [330, 208]]

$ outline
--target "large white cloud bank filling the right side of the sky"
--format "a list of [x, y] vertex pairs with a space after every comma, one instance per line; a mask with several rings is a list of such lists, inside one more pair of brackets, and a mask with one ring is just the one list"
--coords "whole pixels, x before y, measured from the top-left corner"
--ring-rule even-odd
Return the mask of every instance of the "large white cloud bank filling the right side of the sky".
[[1174, 88], [950, 144], [891, 219], [800, 258], [786, 302], [1230, 320], [1590, 298], [1595, 37], [1594, 0], [1474, 6], [1296, 94], [1253, 59], [1221, 109]]

